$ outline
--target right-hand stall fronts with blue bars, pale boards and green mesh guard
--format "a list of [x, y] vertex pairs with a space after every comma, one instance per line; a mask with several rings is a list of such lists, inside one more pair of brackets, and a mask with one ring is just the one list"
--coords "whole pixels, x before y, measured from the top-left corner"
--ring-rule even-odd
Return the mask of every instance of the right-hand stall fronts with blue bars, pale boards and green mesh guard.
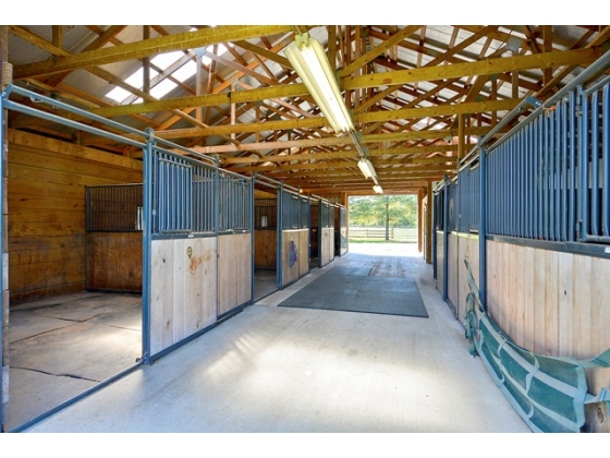
[[435, 188], [437, 288], [532, 431], [609, 432], [610, 79], [504, 120]]

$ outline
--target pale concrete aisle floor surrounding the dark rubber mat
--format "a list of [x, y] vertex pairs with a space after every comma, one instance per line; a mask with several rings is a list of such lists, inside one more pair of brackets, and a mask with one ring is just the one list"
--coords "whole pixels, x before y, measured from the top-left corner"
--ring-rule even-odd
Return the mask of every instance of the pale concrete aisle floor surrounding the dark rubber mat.
[[353, 244], [351, 254], [26, 432], [529, 432], [468, 354], [413, 245], [369, 260], [408, 256], [429, 318], [277, 306], [329, 268], [363, 262], [368, 249]]

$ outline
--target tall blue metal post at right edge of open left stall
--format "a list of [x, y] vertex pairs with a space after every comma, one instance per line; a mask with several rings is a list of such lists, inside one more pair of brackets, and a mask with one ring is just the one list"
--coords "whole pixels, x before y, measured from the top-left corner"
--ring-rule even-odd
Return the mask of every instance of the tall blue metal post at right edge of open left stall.
[[155, 131], [147, 129], [146, 147], [144, 149], [144, 181], [143, 214], [142, 214], [142, 360], [150, 364], [150, 285], [151, 285], [151, 234], [152, 234], [152, 145], [155, 143]]

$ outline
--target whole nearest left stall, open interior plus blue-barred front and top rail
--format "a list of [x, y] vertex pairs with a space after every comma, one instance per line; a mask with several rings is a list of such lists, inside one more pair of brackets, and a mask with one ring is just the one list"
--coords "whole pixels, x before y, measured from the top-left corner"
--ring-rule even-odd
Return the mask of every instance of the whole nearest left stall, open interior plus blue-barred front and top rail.
[[5, 110], [51, 117], [23, 100], [129, 134], [50, 118], [143, 159], [8, 130], [0, 418], [11, 432], [150, 364], [253, 299], [254, 180], [151, 131], [19, 87], [2, 93], [0, 121]]

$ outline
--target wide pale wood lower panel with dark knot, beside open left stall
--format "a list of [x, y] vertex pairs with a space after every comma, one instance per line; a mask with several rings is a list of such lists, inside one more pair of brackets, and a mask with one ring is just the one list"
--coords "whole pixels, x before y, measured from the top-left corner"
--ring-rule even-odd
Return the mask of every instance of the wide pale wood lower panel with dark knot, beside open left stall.
[[217, 240], [151, 242], [151, 355], [216, 322]]

